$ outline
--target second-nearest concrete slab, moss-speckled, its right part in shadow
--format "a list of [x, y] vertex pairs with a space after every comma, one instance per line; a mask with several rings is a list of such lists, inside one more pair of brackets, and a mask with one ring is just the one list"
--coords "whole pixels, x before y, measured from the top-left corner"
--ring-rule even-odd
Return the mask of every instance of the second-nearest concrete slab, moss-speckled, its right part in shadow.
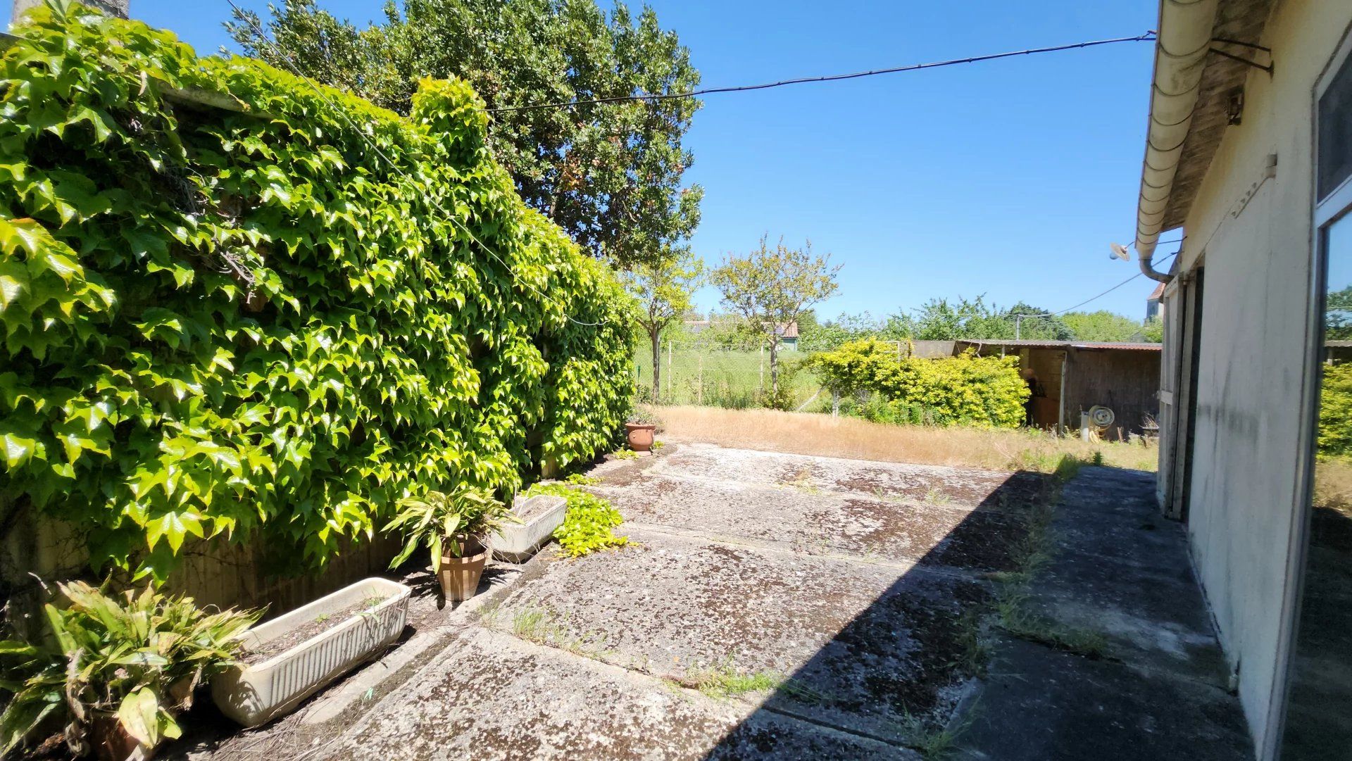
[[641, 545], [554, 561], [489, 624], [675, 680], [708, 669], [790, 679], [775, 704], [903, 739], [907, 715], [950, 708], [960, 618], [986, 585], [919, 568], [848, 564], [631, 531]]

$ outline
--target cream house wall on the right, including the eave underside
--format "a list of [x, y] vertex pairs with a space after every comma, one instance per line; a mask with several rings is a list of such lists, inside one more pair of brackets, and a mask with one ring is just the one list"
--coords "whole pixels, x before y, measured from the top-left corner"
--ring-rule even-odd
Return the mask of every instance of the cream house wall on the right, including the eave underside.
[[[1295, 593], [1313, 88], [1349, 23], [1352, 3], [1278, 3], [1261, 41], [1275, 74], [1251, 70], [1244, 123], [1228, 128], [1184, 224], [1182, 269], [1206, 255], [1188, 533], [1260, 758], [1275, 753]], [[1276, 176], [1263, 181], [1270, 154]]]

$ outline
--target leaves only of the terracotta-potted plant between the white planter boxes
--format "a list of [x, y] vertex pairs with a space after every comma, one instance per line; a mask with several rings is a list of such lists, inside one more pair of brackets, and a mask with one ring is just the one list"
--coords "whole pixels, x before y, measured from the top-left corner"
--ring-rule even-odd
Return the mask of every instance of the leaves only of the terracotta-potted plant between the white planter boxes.
[[441, 570], [441, 557], [464, 557], [472, 543], [481, 545], [506, 523], [519, 523], [511, 510], [483, 489], [458, 487], [450, 493], [427, 492], [422, 497], [399, 500], [399, 512], [385, 524], [385, 531], [399, 531], [404, 547], [389, 568], [408, 560], [418, 545], [431, 553], [433, 573]]

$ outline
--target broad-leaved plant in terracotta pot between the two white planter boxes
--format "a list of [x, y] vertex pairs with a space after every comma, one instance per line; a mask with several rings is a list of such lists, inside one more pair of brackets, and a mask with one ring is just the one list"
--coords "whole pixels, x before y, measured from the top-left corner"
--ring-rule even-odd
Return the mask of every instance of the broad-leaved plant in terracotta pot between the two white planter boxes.
[[468, 600], [484, 573], [488, 535], [506, 523], [519, 520], [484, 489], [458, 487], [450, 493], [433, 491], [420, 499], [404, 497], [399, 500], [397, 515], [385, 526], [385, 531], [397, 529], [404, 535], [404, 549], [389, 568], [423, 545], [431, 553], [431, 570], [446, 599]]

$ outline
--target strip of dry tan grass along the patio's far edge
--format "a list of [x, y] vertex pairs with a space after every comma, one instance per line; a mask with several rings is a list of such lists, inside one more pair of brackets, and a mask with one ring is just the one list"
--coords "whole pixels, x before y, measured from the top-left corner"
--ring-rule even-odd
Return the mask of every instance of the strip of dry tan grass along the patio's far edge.
[[992, 470], [1051, 473], [1065, 454], [1103, 465], [1155, 470], [1155, 446], [1083, 442], [1034, 430], [888, 426], [857, 418], [775, 410], [658, 407], [665, 438], [721, 446], [879, 460], [956, 465]]

